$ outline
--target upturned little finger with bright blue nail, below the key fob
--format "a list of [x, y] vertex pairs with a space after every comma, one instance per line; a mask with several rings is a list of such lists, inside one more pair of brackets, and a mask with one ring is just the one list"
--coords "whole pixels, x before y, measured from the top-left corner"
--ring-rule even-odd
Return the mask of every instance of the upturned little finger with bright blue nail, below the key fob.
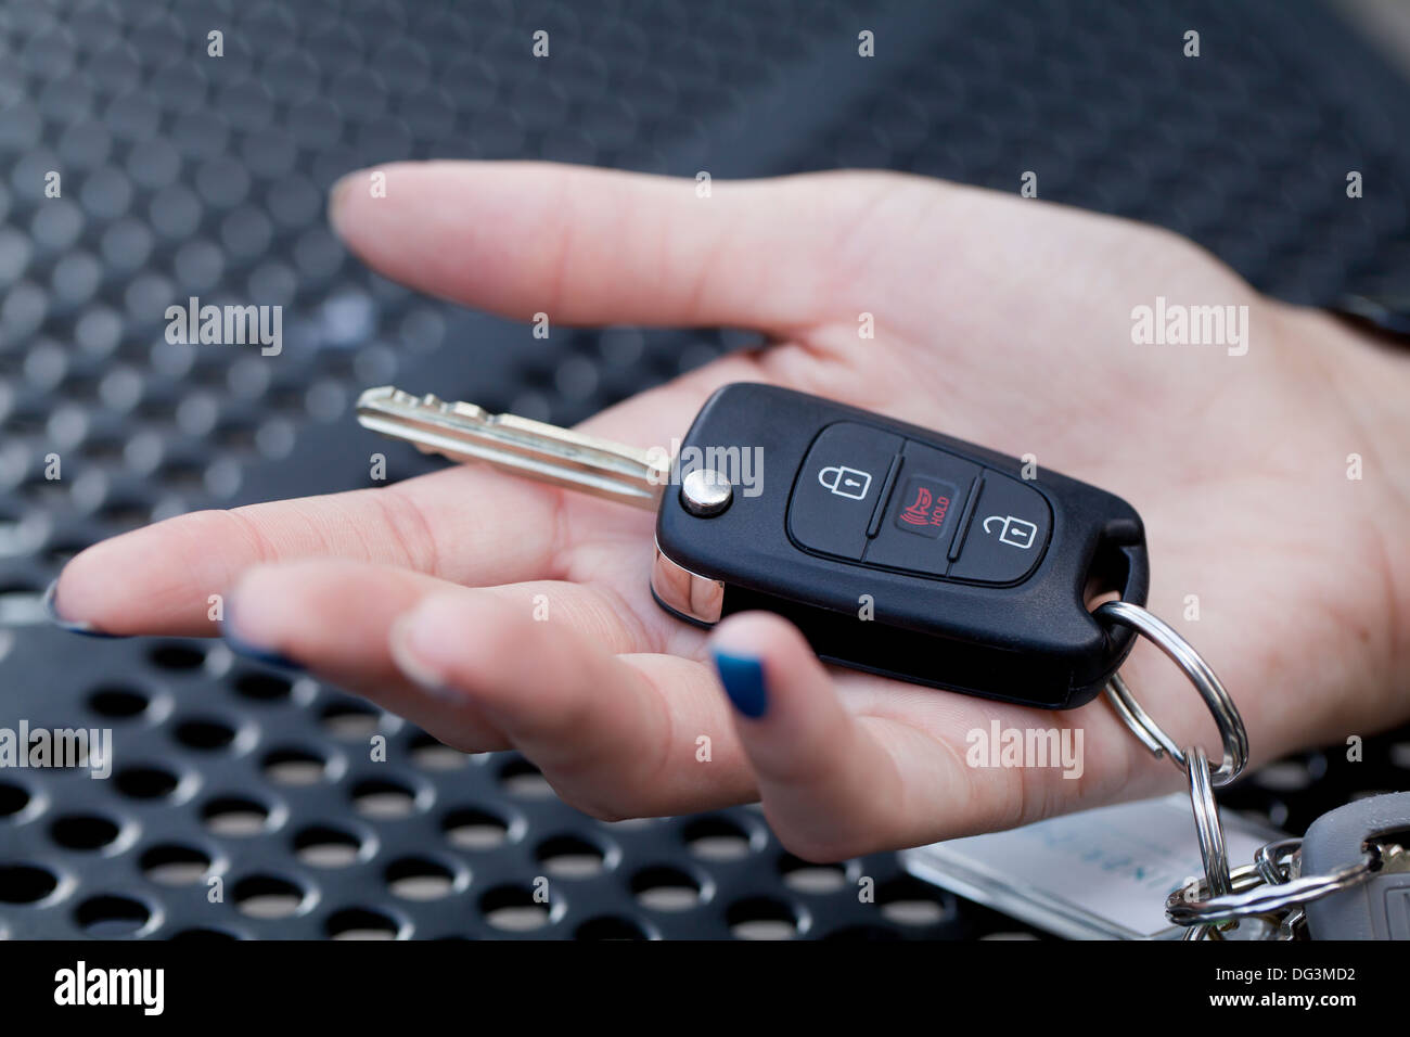
[[895, 760], [849, 712], [802, 635], [770, 612], [721, 624], [711, 655], [735, 705], [770, 825], [808, 861], [895, 845], [914, 830]]

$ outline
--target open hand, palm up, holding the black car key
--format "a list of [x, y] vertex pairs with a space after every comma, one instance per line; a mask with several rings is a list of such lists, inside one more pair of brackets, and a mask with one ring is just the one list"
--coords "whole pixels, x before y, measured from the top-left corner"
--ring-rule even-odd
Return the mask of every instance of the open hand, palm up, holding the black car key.
[[[1410, 358], [1259, 296], [1167, 231], [938, 181], [836, 172], [713, 185], [540, 164], [384, 166], [330, 205], [385, 275], [554, 325], [736, 326], [732, 354], [582, 427], [667, 444], [716, 387], [768, 381], [1011, 454], [1142, 514], [1149, 607], [1221, 676], [1256, 766], [1410, 718]], [[1246, 305], [1249, 350], [1132, 344], [1158, 295]], [[859, 337], [859, 313], [876, 337]], [[436, 387], [409, 387], [434, 389]], [[1363, 478], [1347, 477], [1348, 454]], [[815, 861], [988, 831], [1182, 786], [1097, 700], [1045, 712], [823, 667], [764, 614], [709, 639], [647, 590], [647, 512], [482, 466], [197, 512], [96, 545], [56, 608], [111, 633], [227, 635], [295, 659], [470, 752], [515, 746], [603, 818], [761, 799]], [[533, 618], [547, 595], [548, 621]], [[1198, 595], [1197, 621], [1184, 619]], [[709, 648], [761, 660], [730, 708]], [[1148, 645], [1124, 674], [1220, 758]], [[1084, 770], [971, 768], [966, 732], [1081, 728]], [[711, 760], [697, 738], [711, 738]]]

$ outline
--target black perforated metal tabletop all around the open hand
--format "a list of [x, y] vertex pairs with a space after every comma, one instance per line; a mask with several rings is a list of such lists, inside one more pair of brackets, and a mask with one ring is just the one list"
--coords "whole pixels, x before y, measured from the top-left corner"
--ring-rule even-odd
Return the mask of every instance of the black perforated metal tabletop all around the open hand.
[[[379, 449], [395, 477], [431, 467], [357, 429], [364, 387], [571, 423], [752, 341], [539, 340], [407, 292], [326, 226], [350, 169], [881, 166], [1007, 192], [1035, 171], [1045, 199], [1172, 227], [1328, 305], [1410, 274], [1407, 23], [1393, 0], [6, 0], [0, 725], [111, 727], [117, 770], [0, 772], [0, 937], [1031, 934], [891, 855], [805, 865], [756, 810], [598, 824], [515, 755], [451, 752], [220, 643], [51, 629], [42, 591], [154, 519], [365, 485]], [[282, 353], [165, 341], [192, 295], [283, 306]], [[376, 732], [388, 763], [367, 760]], [[1224, 801], [1300, 831], [1406, 787], [1410, 736], [1390, 741], [1354, 773], [1313, 753]]]

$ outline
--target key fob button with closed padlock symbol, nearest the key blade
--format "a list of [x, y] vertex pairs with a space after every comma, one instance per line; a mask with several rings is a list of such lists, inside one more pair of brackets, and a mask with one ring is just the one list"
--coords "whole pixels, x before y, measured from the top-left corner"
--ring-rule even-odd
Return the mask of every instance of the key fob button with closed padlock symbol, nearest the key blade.
[[859, 422], [823, 429], [794, 484], [790, 536], [811, 550], [860, 562], [867, 523], [904, 442]]

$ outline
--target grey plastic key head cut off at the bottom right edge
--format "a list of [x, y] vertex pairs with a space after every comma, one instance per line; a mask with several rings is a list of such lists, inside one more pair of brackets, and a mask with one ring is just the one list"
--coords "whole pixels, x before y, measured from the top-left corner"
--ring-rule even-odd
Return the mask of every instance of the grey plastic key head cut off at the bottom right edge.
[[1303, 875], [1372, 873], [1303, 909], [1313, 940], [1410, 940], [1410, 792], [1369, 796], [1323, 814], [1301, 844]]

